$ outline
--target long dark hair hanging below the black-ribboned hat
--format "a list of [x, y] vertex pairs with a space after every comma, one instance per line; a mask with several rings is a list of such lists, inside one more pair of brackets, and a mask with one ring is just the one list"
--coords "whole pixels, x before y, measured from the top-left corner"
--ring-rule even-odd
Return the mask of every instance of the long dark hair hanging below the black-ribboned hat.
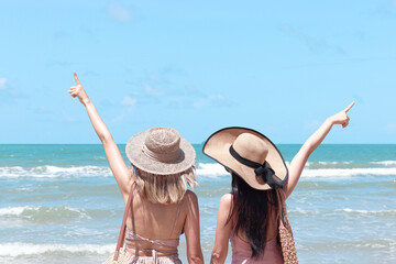
[[280, 200], [276, 189], [257, 190], [250, 187], [241, 177], [232, 175], [232, 207], [228, 221], [237, 216], [234, 232], [241, 231], [248, 238], [252, 248], [252, 256], [260, 256], [266, 244], [267, 230], [270, 224], [270, 213], [276, 213], [276, 222], [282, 212]]

